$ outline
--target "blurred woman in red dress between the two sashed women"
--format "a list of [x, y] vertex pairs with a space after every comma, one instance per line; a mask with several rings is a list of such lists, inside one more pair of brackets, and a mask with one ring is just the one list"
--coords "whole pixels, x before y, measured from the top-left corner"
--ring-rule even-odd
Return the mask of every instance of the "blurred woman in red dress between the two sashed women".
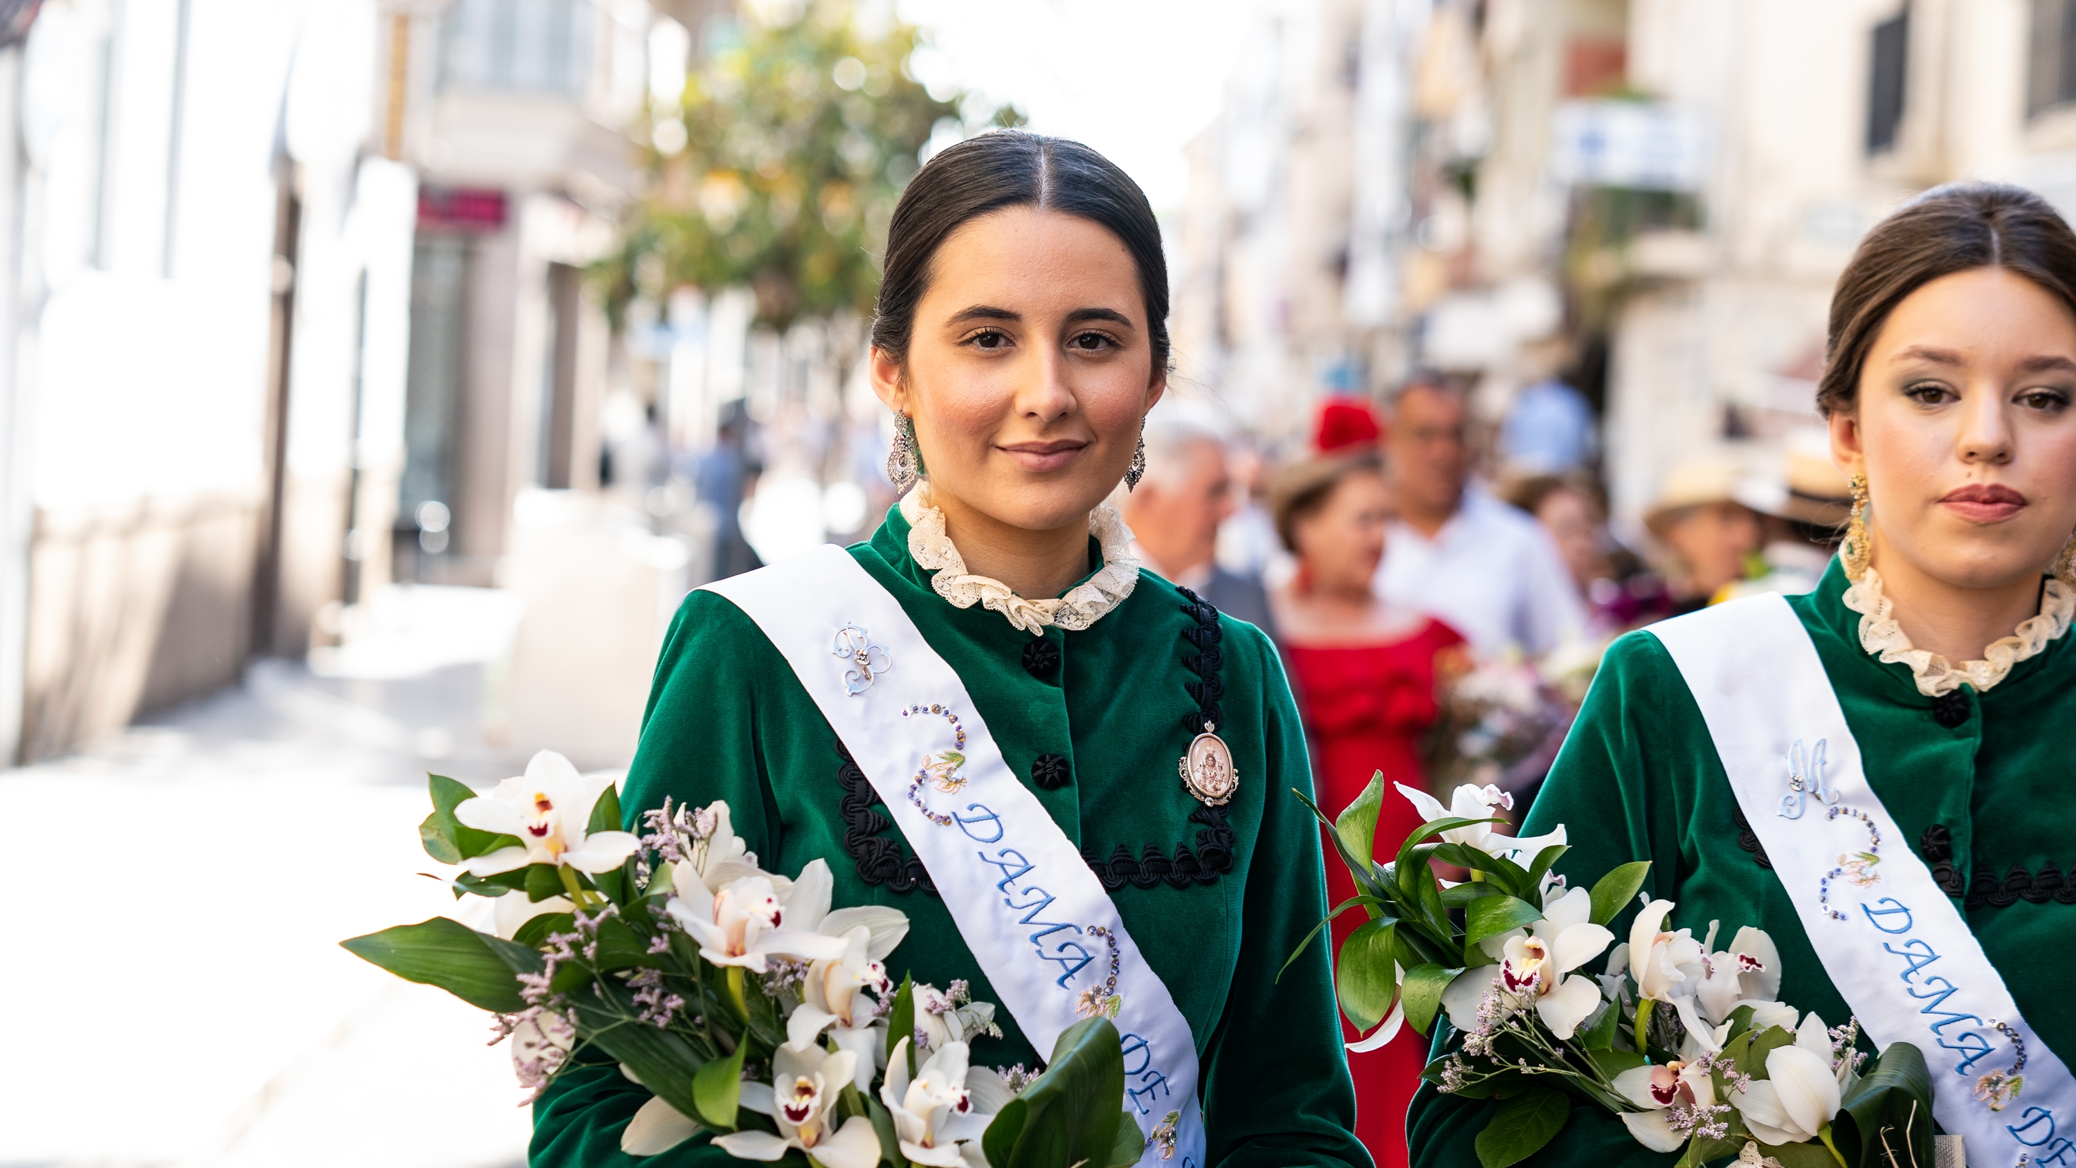
[[[1378, 770], [1387, 784], [1424, 790], [1420, 736], [1439, 716], [1437, 656], [1459, 651], [1464, 637], [1430, 616], [1387, 606], [1370, 589], [1391, 519], [1383, 463], [1376, 454], [1314, 458], [1285, 471], [1273, 502], [1298, 575], [1271, 593], [1271, 608], [1312, 743], [1320, 807], [1347, 807]], [[1395, 846], [1418, 826], [1420, 815], [1387, 786], [1376, 838]], [[1356, 894], [1337, 861], [1327, 863], [1327, 894], [1335, 905]], [[1337, 917], [1335, 940], [1362, 919]], [[1345, 1019], [1341, 1029], [1356, 1039]], [[1356, 1135], [1378, 1168], [1405, 1166], [1405, 1108], [1426, 1050], [1426, 1039], [1405, 1027], [1383, 1050], [1349, 1056]]]

